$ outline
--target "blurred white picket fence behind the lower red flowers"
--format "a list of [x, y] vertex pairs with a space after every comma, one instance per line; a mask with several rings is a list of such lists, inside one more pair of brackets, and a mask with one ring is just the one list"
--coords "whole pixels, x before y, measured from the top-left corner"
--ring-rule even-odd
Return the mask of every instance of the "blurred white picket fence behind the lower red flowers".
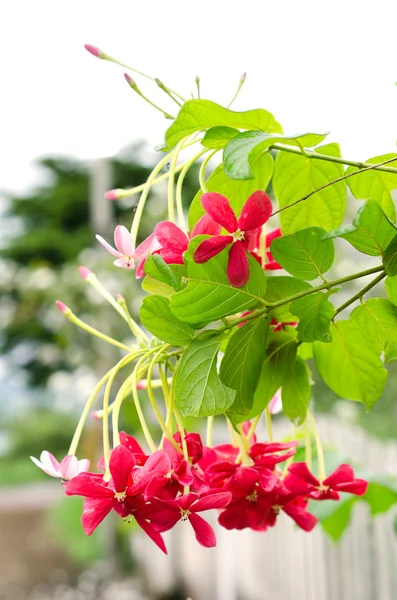
[[[336, 420], [323, 419], [319, 428], [325, 442], [368, 470], [397, 473], [397, 444]], [[134, 536], [132, 545], [154, 594], [180, 582], [192, 600], [397, 600], [395, 512], [371, 519], [367, 504], [357, 503], [339, 544], [320, 526], [310, 534], [299, 530], [284, 514], [264, 533], [226, 531], [213, 514], [214, 549], [196, 542], [189, 523], [166, 534], [168, 557], [144, 536]]]

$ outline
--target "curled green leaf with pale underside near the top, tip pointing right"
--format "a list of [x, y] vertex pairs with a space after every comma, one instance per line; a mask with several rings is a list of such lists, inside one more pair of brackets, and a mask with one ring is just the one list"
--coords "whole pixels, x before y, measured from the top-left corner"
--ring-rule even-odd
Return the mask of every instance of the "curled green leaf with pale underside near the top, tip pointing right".
[[278, 142], [300, 148], [312, 148], [320, 144], [327, 133], [303, 133], [283, 136], [263, 131], [244, 131], [231, 139], [224, 150], [225, 171], [232, 179], [251, 179], [251, 166], [259, 156]]

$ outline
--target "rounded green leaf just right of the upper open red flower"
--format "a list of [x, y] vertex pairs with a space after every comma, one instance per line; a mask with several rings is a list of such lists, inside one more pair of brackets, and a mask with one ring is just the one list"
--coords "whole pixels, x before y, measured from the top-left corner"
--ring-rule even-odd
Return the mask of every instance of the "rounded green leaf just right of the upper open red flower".
[[270, 244], [274, 259], [298, 279], [311, 281], [326, 273], [334, 262], [332, 240], [321, 241], [325, 234], [320, 227], [308, 227], [291, 235], [276, 238]]

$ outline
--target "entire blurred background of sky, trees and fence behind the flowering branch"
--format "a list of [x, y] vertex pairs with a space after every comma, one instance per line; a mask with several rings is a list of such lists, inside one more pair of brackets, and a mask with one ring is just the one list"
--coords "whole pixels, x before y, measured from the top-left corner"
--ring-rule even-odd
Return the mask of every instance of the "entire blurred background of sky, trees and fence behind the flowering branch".
[[[336, 1], [326, 11], [308, 0], [244, 6], [202, 0], [189, 11], [180, 0], [141, 6], [15, 0], [0, 7], [1, 599], [397, 598], [393, 364], [384, 397], [370, 413], [338, 399], [311, 365], [329, 464], [359, 461], [371, 481], [367, 502], [325, 506], [318, 514], [323, 529], [311, 536], [288, 522], [263, 535], [217, 531], [217, 549], [204, 551], [182, 524], [168, 536], [168, 558], [116, 520], [86, 538], [79, 499], [65, 499], [59, 482], [29, 460], [43, 449], [66, 454], [87, 396], [118, 358], [117, 350], [65, 320], [55, 300], [117, 339], [128, 335], [77, 267], [92, 269], [111, 293], [126, 298], [134, 316], [139, 312], [134, 275], [115, 269], [94, 236], [111, 241], [115, 224], [129, 226], [133, 200], [109, 202], [103, 193], [147, 179], [169, 124], [133, 94], [121, 68], [94, 59], [83, 44], [98, 45], [186, 96], [199, 74], [202, 97], [220, 103], [248, 71], [236, 110], [264, 107], [290, 134], [331, 130], [343, 156], [365, 160], [395, 150], [396, 12], [394, 2], [382, 0], [376, 10]], [[155, 85], [137, 81], [173, 109]], [[186, 206], [198, 188], [196, 175], [186, 179]], [[353, 200], [347, 222], [358, 207]], [[141, 238], [164, 216], [158, 185]], [[335, 277], [357, 262], [347, 244], [337, 251]], [[372, 266], [367, 258], [363, 268]], [[123, 419], [133, 432], [128, 400]], [[285, 423], [276, 425], [283, 435]], [[80, 455], [94, 464], [100, 455], [94, 420]]]

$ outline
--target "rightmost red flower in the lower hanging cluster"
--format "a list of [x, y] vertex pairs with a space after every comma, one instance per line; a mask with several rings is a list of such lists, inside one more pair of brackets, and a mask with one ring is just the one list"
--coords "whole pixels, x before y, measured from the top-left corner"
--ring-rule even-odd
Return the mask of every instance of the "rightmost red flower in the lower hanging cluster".
[[314, 477], [304, 462], [294, 463], [288, 470], [290, 474], [285, 478], [288, 489], [313, 500], [339, 500], [339, 492], [363, 496], [368, 487], [368, 482], [356, 479], [353, 469], [346, 464], [340, 465], [322, 482]]

